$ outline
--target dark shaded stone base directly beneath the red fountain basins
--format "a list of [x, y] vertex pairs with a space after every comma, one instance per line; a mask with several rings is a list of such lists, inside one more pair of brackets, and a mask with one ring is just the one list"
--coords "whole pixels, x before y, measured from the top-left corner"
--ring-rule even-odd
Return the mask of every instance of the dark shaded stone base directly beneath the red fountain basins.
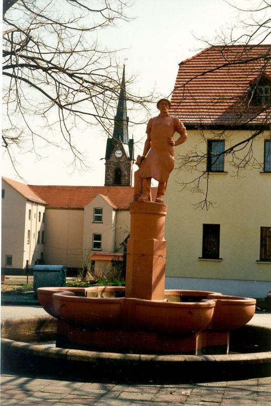
[[89, 351], [144, 354], [227, 354], [229, 332], [201, 331], [187, 335], [122, 329], [86, 329], [57, 322], [56, 346]]

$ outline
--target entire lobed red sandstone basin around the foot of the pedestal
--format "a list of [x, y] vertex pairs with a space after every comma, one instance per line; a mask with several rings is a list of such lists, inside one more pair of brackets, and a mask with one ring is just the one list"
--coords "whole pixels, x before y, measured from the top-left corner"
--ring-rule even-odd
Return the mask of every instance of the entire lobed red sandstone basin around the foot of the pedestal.
[[[245, 325], [255, 312], [255, 300], [250, 298], [183, 290], [165, 291], [165, 297], [174, 302], [115, 297], [124, 295], [124, 290], [122, 287], [39, 288], [38, 297], [50, 315], [75, 326], [173, 335], [229, 331]], [[183, 302], [193, 297], [204, 299]]]

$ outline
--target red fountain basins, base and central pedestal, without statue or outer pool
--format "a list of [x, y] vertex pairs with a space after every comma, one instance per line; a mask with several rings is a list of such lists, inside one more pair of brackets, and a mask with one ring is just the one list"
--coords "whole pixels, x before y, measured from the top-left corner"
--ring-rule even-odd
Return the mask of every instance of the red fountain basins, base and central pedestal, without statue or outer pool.
[[254, 315], [255, 299], [165, 290], [167, 206], [130, 204], [126, 287], [39, 288], [57, 318], [57, 347], [158, 354], [226, 354], [229, 331]]

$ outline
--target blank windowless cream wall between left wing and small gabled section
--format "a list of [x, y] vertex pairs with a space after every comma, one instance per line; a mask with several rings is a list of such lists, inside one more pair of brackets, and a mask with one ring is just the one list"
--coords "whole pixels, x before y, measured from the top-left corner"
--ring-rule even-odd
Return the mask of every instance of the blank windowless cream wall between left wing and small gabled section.
[[78, 267], [83, 247], [83, 210], [47, 209], [45, 263]]

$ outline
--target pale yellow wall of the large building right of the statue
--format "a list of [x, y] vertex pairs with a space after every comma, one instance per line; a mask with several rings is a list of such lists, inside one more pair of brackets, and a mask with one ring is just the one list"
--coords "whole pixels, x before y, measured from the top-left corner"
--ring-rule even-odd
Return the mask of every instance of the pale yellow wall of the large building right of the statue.
[[[225, 173], [210, 173], [208, 199], [214, 202], [215, 207], [210, 207], [208, 211], [195, 209], [193, 204], [201, 201], [204, 194], [182, 191], [182, 182], [191, 181], [203, 174], [206, 162], [192, 174], [184, 170], [178, 171], [178, 154], [189, 153], [195, 145], [199, 150], [205, 151], [207, 146], [197, 131], [190, 130], [188, 133], [188, 141], [176, 147], [175, 170], [171, 174], [165, 199], [168, 205], [166, 218], [168, 287], [172, 287], [174, 283], [177, 288], [176, 283], [179, 283], [178, 288], [181, 289], [185, 286], [185, 279], [188, 282], [197, 279], [202, 281], [202, 284], [193, 286], [202, 290], [208, 290], [210, 285], [215, 286], [214, 283], [208, 283], [208, 280], [251, 281], [249, 284], [251, 292], [252, 286], [256, 286], [259, 281], [258, 286], [263, 290], [267, 289], [267, 286], [271, 289], [269, 283], [271, 262], [258, 261], [260, 227], [271, 227], [271, 174], [262, 173], [262, 168], [247, 167], [240, 171], [237, 177], [236, 170], [229, 162], [230, 158], [225, 157]], [[232, 135], [226, 133], [225, 149], [249, 135], [248, 131], [234, 131]], [[205, 137], [214, 139], [214, 134], [205, 132]], [[240, 151], [239, 155], [244, 152]], [[263, 154], [264, 137], [261, 137], [253, 142], [255, 162], [262, 163]], [[222, 258], [220, 261], [199, 259], [202, 256], [204, 223], [220, 224], [220, 258]], [[178, 282], [178, 278], [185, 279]], [[217, 284], [218, 287], [222, 285]], [[237, 285], [245, 286], [239, 282]], [[256, 292], [256, 289], [254, 291]]]

